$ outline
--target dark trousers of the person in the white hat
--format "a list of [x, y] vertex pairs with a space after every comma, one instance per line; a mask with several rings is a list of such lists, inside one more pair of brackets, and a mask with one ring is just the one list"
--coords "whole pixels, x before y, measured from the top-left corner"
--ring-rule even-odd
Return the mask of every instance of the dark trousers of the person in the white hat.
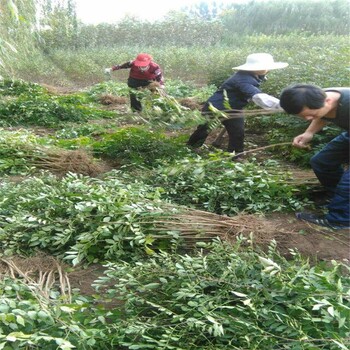
[[[222, 121], [228, 134], [227, 152], [241, 153], [244, 149], [244, 118], [236, 117]], [[209, 135], [208, 124], [202, 124], [190, 136], [187, 145], [191, 147], [200, 147], [203, 145]]]

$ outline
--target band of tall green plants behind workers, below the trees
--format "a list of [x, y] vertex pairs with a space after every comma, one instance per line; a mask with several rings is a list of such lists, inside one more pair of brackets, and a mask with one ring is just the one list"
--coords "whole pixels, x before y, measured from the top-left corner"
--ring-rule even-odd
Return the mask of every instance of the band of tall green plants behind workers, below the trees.
[[[233, 73], [232, 67], [245, 62], [249, 53], [268, 52], [276, 61], [289, 63], [286, 69], [270, 73], [264, 84], [268, 93], [276, 94], [295, 82], [324, 87], [349, 84], [347, 36], [298, 34], [246, 36], [234, 47], [125, 45], [110, 49], [56, 50], [47, 55], [33, 53], [16, 63], [16, 75], [34, 82], [87, 87], [106, 79], [105, 67], [131, 60], [139, 52], [152, 54], [162, 67], [165, 80], [218, 85]], [[113, 72], [112, 76], [126, 82], [128, 70]]]

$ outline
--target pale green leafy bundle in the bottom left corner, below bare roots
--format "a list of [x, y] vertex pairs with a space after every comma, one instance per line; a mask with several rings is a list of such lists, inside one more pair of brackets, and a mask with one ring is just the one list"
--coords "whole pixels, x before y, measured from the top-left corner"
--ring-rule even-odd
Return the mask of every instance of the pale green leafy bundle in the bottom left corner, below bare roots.
[[[27, 283], [26, 283], [27, 282]], [[47, 293], [47, 294], [46, 294]], [[99, 347], [106, 335], [87, 308], [88, 299], [75, 296], [69, 301], [58, 290], [40, 289], [23, 279], [0, 281], [1, 349], [106, 349]], [[98, 314], [99, 311], [96, 309]], [[106, 327], [104, 327], [106, 328]]]

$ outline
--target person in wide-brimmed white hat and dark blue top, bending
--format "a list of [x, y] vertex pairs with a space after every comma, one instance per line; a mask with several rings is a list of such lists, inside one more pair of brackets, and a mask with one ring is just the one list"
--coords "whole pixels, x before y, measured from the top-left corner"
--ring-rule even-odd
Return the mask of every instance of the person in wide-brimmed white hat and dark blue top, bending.
[[[279, 100], [260, 90], [260, 84], [266, 79], [270, 70], [281, 69], [288, 66], [285, 62], [275, 62], [268, 53], [253, 53], [248, 55], [245, 64], [233, 67], [238, 72], [233, 74], [220, 86], [220, 88], [206, 101], [202, 112], [210, 112], [210, 105], [219, 110], [225, 107], [226, 91], [229, 105], [234, 110], [242, 110], [250, 101], [264, 109], [281, 109]], [[236, 112], [237, 113], [237, 112]], [[235, 154], [244, 149], [244, 118], [238, 117], [222, 121], [228, 133], [227, 151]], [[209, 135], [208, 124], [199, 125], [187, 141], [190, 147], [200, 147]]]

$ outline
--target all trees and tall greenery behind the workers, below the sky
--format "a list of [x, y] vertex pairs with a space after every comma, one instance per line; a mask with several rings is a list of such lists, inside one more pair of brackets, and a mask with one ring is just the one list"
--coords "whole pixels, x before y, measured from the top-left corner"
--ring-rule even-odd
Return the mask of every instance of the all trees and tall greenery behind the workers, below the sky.
[[[348, 19], [346, 0], [252, 1], [199, 3], [154, 23], [125, 17], [86, 25], [73, 0], [2, 0], [0, 75], [89, 86], [105, 79], [104, 67], [147, 51], [168, 80], [220, 84], [247, 54], [269, 52], [290, 64], [274, 72], [270, 92], [300, 80], [347, 85]], [[120, 71], [115, 79], [126, 76]]]

